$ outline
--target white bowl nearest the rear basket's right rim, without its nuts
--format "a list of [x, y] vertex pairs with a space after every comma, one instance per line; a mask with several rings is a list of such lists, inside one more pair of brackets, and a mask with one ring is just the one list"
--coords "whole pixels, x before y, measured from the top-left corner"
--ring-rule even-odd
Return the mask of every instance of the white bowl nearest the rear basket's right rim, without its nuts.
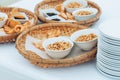
[[[89, 15], [77, 15], [77, 13], [80, 11], [89, 11], [92, 13]], [[77, 21], [84, 21], [84, 20], [88, 20], [90, 18], [95, 17], [97, 12], [98, 12], [98, 10], [95, 8], [82, 8], [82, 9], [75, 10], [72, 14]]]

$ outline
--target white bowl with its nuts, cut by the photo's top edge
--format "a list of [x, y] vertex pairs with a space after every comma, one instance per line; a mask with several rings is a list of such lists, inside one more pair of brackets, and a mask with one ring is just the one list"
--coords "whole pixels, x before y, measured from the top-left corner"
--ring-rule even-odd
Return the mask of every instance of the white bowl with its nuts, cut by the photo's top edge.
[[63, 6], [66, 8], [68, 12], [73, 12], [75, 10], [87, 7], [86, 0], [66, 0], [63, 3]]

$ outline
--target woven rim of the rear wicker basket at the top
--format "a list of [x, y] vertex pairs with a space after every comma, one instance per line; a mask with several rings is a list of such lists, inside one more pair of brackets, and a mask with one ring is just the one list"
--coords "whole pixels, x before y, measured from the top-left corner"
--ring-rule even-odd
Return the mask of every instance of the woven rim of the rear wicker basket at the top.
[[[44, 1], [42, 1], [42, 2], [40, 2], [40, 3], [38, 3], [36, 6], [35, 6], [35, 8], [34, 8], [34, 12], [35, 12], [35, 14], [37, 15], [37, 17], [39, 18], [39, 20], [40, 21], [42, 21], [42, 22], [58, 22], [58, 21], [53, 21], [53, 20], [48, 20], [48, 19], [46, 19], [46, 18], [44, 18], [43, 16], [41, 16], [40, 15], [40, 12], [39, 12], [39, 8], [41, 7], [41, 6], [44, 6], [45, 4], [48, 4], [48, 3], [51, 3], [51, 2], [58, 2], [59, 0], [44, 0]], [[62, 1], [64, 1], [64, 0], [62, 0]], [[74, 23], [74, 24], [81, 24], [81, 25], [88, 25], [88, 27], [89, 26], [91, 26], [93, 23], [95, 23], [96, 21], [98, 21], [99, 20], [99, 18], [100, 18], [100, 16], [101, 16], [101, 13], [102, 13], [102, 10], [101, 10], [101, 8], [99, 7], [99, 5], [98, 4], [96, 4], [95, 2], [92, 2], [92, 1], [87, 1], [88, 2], [88, 5], [92, 5], [92, 6], [94, 6], [97, 10], [98, 10], [98, 13], [97, 13], [97, 15], [94, 17], [94, 18], [91, 18], [91, 19], [88, 19], [88, 20], [84, 20], [84, 21], [77, 21], [77, 22], [72, 22], [72, 23]], [[69, 22], [68, 22], [69, 23]]]

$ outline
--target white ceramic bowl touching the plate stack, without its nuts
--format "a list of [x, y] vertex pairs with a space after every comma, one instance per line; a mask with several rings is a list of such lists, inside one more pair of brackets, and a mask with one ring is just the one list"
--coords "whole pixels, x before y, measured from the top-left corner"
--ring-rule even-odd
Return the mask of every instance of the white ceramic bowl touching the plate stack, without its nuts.
[[85, 42], [76, 42], [75, 40], [81, 36], [81, 35], [86, 35], [86, 34], [95, 34], [97, 35], [97, 31], [95, 29], [84, 29], [84, 30], [79, 30], [74, 32], [70, 39], [76, 44], [78, 45], [82, 50], [91, 50], [93, 47], [96, 46], [97, 44], [97, 38], [90, 40], [90, 41], [85, 41]]

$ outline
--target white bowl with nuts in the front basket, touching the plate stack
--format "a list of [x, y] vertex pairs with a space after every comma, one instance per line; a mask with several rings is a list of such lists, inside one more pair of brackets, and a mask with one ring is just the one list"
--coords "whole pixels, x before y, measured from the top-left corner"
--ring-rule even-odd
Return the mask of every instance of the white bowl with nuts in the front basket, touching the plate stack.
[[97, 31], [95, 29], [84, 29], [74, 32], [70, 39], [80, 47], [80, 49], [88, 51], [97, 44]]

